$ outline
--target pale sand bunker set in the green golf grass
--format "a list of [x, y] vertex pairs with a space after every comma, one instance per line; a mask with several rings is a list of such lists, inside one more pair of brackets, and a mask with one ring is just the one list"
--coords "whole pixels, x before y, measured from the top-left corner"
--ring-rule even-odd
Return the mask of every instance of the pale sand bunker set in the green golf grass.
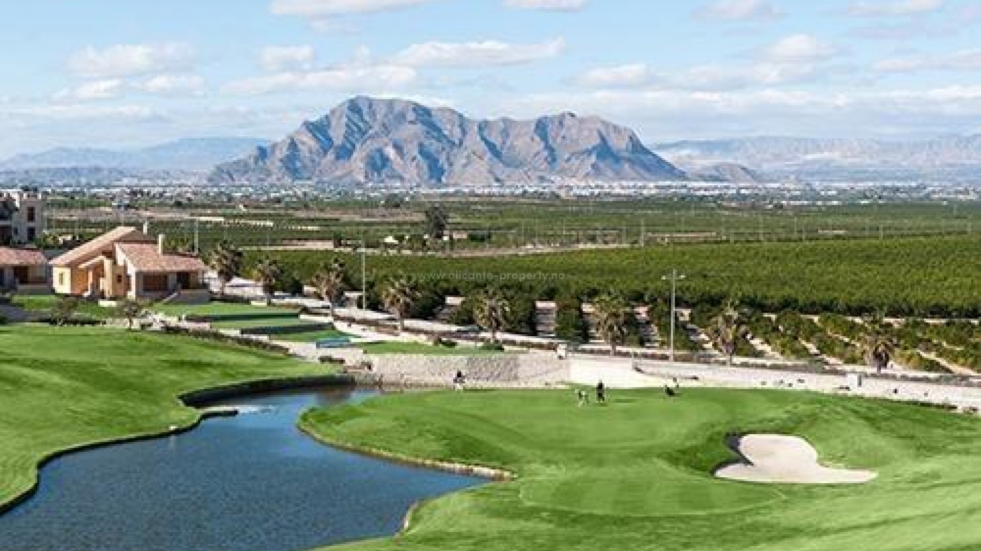
[[723, 467], [715, 476], [781, 484], [861, 484], [876, 477], [871, 471], [821, 467], [817, 450], [797, 436], [749, 434], [736, 441], [735, 450], [745, 463]]

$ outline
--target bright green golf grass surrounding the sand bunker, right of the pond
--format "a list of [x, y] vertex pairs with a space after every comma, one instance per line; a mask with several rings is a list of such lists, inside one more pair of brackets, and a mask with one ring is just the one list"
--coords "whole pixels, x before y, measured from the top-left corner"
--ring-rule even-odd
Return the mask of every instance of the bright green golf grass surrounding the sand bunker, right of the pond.
[[[309, 413], [326, 439], [496, 466], [519, 480], [423, 507], [410, 531], [352, 551], [967, 551], [981, 548], [981, 422], [902, 404], [779, 391], [407, 394]], [[808, 438], [861, 486], [708, 475], [727, 431]]]

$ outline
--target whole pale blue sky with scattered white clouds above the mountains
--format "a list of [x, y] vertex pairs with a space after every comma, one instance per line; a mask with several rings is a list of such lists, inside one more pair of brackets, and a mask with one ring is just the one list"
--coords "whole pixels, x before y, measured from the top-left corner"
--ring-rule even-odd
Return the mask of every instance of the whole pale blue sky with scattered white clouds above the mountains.
[[981, 132], [979, 0], [0, 0], [0, 158], [279, 138], [352, 95], [650, 143]]

